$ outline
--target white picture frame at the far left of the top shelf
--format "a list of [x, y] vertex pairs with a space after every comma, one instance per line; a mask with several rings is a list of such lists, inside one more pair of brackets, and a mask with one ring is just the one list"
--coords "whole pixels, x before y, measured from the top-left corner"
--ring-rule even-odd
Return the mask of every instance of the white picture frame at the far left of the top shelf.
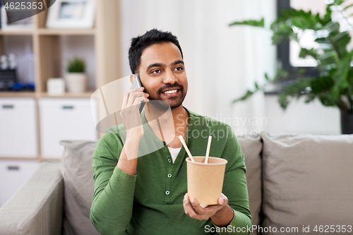
[[6, 16], [6, 11], [4, 5], [1, 6], [1, 30], [4, 31], [16, 31], [16, 30], [33, 30], [34, 22], [33, 17], [28, 17], [23, 20], [18, 20], [14, 23], [8, 23], [8, 18]]

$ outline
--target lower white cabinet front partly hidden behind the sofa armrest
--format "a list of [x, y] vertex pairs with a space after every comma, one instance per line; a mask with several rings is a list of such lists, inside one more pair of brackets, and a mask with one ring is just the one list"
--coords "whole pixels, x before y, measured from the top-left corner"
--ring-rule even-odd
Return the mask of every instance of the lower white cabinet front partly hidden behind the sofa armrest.
[[38, 164], [35, 160], [0, 160], [0, 207], [30, 178]]

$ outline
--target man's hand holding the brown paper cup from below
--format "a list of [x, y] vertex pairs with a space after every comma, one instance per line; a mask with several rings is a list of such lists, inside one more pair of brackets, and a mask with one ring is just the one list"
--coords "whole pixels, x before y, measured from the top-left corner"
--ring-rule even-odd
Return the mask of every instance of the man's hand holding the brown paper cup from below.
[[195, 198], [189, 200], [189, 195], [186, 193], [183, 205], [186, 215], [198, 220], [211, 218], [213, 223], [219, 227], [227, 226], [234, 217], [233, 209], [228, 205], [228, 198], [223, 193], [218, 198], [217, 205], [208, 205], [205, 208], [201, 207]]

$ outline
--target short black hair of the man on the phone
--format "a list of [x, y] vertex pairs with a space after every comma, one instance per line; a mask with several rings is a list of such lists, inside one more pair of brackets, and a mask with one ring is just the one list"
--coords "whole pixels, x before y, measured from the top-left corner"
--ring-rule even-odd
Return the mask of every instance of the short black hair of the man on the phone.
[[141, 55], [144, 49], [150, 47], [152, 44], [172, 42], [175, 44], [181, 53], [181, 58], [183, 58], [183, 52], [179, 45], [179, 41], [172, 32], [163, 32], [153, 28], [145, 32], [144, 35], [138, 37], [133, 37], [131, 40], [130, 49], [128, 49], [128, 63], [130, 64], [131, 73], [136, 73], [138, 66], [141, 63]]

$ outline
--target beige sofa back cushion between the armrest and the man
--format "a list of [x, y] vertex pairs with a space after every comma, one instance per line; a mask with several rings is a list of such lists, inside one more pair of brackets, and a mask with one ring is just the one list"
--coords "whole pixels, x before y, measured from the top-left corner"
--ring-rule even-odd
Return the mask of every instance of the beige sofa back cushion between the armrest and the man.
[[99, 234], [90, 222], [90, 207], [95, 183], [92, 155], [97, 141], [61, 140], [65, 147], [61, 158], [64, 178], [63, 234]]

